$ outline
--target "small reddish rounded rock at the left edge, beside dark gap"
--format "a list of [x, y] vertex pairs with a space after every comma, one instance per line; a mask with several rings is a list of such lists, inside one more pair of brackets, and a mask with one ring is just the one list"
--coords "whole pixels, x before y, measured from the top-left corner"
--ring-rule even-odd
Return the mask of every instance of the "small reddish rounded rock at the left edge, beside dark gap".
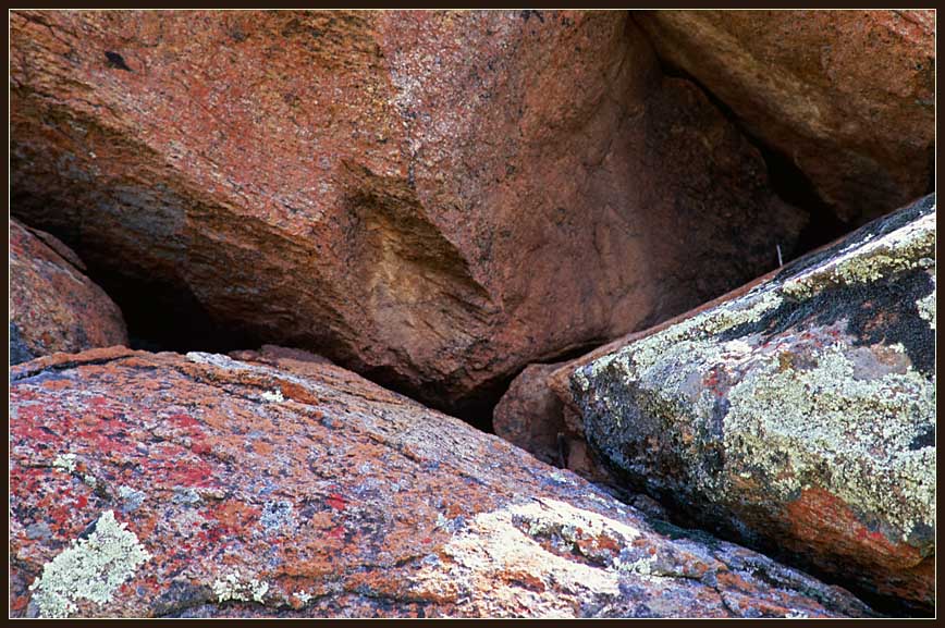
[[126, 345], [122, 313], [48, 233], [10, 220], [10, 364]]

